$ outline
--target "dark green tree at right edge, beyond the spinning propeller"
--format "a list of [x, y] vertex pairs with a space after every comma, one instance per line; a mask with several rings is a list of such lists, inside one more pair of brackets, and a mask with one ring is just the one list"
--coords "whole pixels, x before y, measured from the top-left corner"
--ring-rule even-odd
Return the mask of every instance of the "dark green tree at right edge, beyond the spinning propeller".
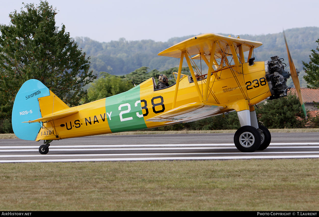
[[[319, 39], [316, 41], [319, 44]], [[319, 52], [319, 47], [317, 46], [316, 50]], [[306, 63], [302, 61], [306, 74], [303, 76], [305, 81], [308, 83], [308, 88], [319, 88], [319, 53], [315, 50], [311, 50], [312, 54], [309, 55], [310, 62]]]

